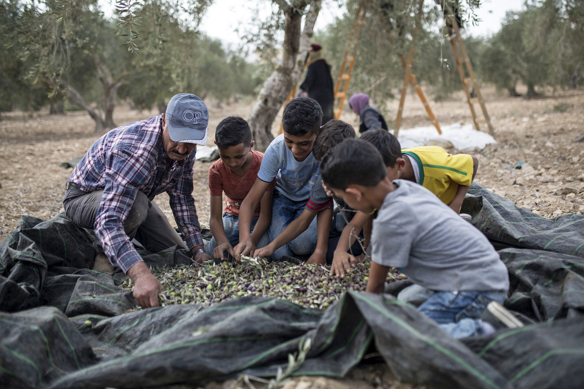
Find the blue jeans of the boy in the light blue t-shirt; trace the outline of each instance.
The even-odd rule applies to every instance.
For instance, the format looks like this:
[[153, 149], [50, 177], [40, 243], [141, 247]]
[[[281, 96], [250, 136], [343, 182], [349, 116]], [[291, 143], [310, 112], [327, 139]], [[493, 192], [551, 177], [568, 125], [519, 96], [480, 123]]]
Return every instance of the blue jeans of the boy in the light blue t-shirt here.
[[[270, 242], [276, 239], [287, 225], [300, 216], [302, 211], [304, 211], [306, 203], [307, 201], [293, 201], [280, 194], [279, 191], [274, 190], [274, 198], [272, 200], [272, 222], [267, 229]], [[317, 218], [314, 218], [312, 219], [310, 226], [308, 226], [303, 233], [274, 251], [272, 254], [272, 260], [278, 260], [280, 257], [283, 257], [283, 255], [294, 257], [295, 254], [312, 254], [316, 247]]]

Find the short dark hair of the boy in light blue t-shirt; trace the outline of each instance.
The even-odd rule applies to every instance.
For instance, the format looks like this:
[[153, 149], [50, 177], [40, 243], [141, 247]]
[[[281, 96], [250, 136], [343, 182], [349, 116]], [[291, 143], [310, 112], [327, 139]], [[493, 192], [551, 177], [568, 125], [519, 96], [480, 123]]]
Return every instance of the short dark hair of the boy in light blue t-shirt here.
[[321, 122], [322, 108], [310, 97], [297, 97], [284, 107], [282, 128], [290, 135], [304, 136], [311, 131], [318, 134]]

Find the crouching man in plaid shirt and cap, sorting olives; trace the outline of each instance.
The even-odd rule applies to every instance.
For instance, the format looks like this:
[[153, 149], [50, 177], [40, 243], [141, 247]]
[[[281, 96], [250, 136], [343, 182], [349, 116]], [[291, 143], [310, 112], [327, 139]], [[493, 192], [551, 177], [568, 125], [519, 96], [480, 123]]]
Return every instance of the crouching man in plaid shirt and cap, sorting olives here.
[[[194, 206], [196, 145], [207, 143], [207, 107], [194, 94], [173, 96], [166, 113], [114, 128], [99, 138], [67, 181], [65, 213], [79, 227], [95, 230], [94, 248], [133, 281], [142, 307], [158, 306], [161, 283], [131, 243], [157, 253], [189, 248], [197, 262], [205, 253]], [[153, 202], [168, 193], [180, 232]], [[99, 254], [98, 254], [99, 257]]]

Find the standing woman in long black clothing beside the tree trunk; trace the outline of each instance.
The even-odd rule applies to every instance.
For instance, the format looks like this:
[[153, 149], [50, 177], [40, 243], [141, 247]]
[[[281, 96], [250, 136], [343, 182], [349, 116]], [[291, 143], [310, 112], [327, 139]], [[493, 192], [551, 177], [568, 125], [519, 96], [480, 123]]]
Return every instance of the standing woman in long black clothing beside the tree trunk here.
[[310, 66], [306, 72], [306, 78], [300, 85], [301, 96], [317, 100], [322, 108], [322, 125], [335, 117], [333, 105], [335, 104], [335, 92], [332, 84], [331, 65], [322, 58], [322, 46], [311, 44]]

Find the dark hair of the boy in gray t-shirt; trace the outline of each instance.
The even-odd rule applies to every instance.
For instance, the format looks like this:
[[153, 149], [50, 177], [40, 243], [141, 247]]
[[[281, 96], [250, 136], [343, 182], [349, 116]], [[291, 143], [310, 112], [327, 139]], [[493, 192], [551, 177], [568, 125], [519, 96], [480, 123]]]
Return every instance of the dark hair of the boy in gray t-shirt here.
[[361, 139], [345, 139], [322, 158], [322, 181], [334, 189], [344, 191], [349, 185], [373, 187], [385, 176], [381, 154]]

